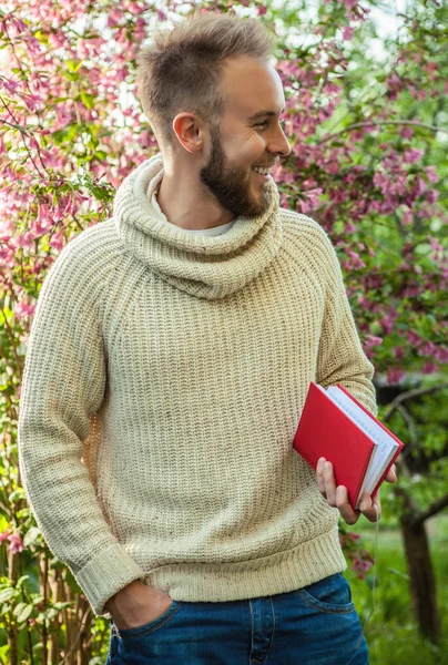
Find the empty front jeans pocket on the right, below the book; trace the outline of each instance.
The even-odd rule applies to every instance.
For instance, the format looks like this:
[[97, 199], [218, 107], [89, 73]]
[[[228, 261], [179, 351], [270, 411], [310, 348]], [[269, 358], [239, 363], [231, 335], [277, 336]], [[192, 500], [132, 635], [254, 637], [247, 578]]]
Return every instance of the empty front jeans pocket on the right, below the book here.
[[327, 614], [354, 612], [350, 585], [342, 573], [298, 589], [296, 593], [309, 606]]

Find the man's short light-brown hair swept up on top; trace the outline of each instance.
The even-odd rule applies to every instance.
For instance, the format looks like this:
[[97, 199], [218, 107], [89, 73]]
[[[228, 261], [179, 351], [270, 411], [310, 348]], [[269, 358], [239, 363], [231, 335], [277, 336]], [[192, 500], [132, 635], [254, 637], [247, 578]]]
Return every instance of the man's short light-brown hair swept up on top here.
[[274, 55], [275, 35], [257, 19], [195, 11], [154, 34], [136, 54], [138, 96], [161, 149], [174, 149], [173, 120], [191, 112], [216, 126], [226, 106], [221, 80], [226, 58]]

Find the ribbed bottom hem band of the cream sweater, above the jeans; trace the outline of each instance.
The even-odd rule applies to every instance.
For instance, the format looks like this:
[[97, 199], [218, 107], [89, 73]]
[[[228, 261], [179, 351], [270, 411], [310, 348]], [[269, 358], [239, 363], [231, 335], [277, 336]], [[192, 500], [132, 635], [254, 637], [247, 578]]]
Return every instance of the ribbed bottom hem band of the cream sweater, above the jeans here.
[[164, 565], [151, 571], [144, 582], [175, 601], [226, 602], [302, 589], [346, 567], [336, 529], [287, 552], [255, 561]]

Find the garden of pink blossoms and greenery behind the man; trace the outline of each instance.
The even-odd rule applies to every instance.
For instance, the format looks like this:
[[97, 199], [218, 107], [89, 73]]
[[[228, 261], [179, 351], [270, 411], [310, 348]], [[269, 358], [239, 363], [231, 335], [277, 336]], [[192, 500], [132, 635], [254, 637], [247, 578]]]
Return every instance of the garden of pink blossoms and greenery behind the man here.
[[[406, 443], [381, 490], [373, 665], [448, 662], [448, 8], [434, 0], [13, 0], [0, 8], [0, 663], [104, 663], [109, 625], [47, 549], [21, 487], [17, 423], [32, 316], [61, 248], [111, 214], [157, 151], [135, 53], [195, 8], [278, 38], [292, 153], [275, 180], [337, 249], [380, 418]], [[340, 524], [373, 608], [375, 533]]]

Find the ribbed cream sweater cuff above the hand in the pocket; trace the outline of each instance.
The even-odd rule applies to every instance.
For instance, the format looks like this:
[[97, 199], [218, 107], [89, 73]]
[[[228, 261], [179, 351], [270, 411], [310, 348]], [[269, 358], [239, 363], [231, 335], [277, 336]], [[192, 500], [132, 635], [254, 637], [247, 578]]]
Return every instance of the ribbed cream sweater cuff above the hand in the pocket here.
[[120, 544], [103, 550], [75, 574], [96, 615], [108, 615], [104, 605], [116, 592], [134, 580], [144, 580], [145, 573]]

